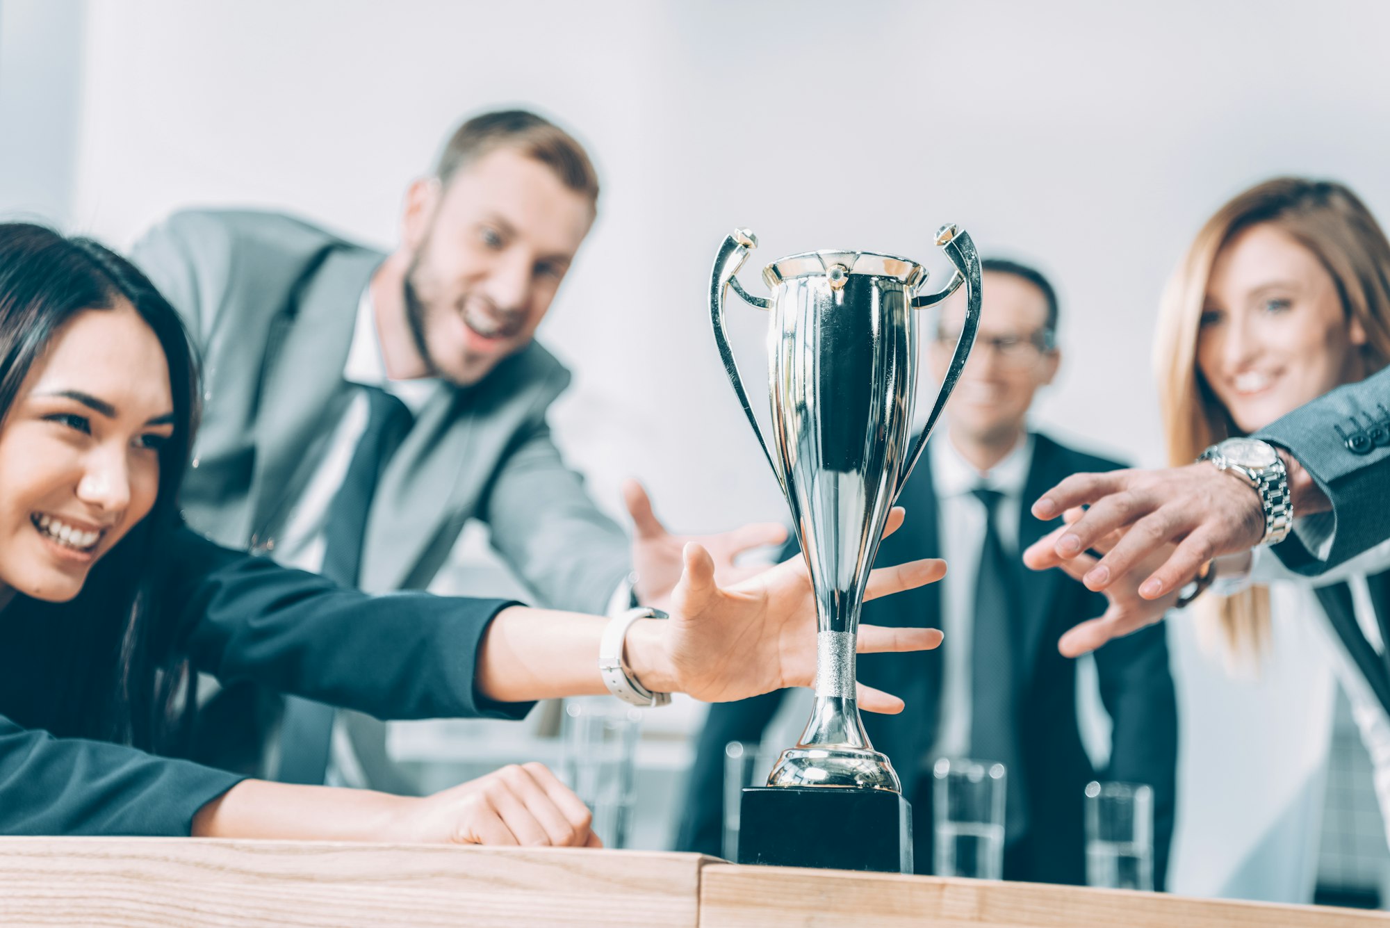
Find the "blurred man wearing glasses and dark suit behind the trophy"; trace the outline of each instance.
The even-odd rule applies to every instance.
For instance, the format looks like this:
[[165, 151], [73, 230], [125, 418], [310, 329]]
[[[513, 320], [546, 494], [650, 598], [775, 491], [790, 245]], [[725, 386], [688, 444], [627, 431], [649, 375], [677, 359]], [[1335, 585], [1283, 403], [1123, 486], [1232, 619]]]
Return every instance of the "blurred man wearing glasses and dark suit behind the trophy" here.
[[[1173, 831], [1177, 707], [1162, 625], [1095, 653], [1111, 715], [1109, 759], [1095, 770], [1081, 746], [1076, 663], [1058, 653], [1077, 617], [1105, 611], [1104, 596], [1062, 571], [1023, 568], [1020, 552], [1047, 532], [1027, 503], [1077, 471], [1120, 467], [1030, 432], [1037, 392], [1052, 382], [1058, 301], [1038, 271], [983, 263], [984, 310], [974, 351], [947, 407], [945, 428], [898, 499], [908, 521], [878, 560], [944, 557], [945, 581], [865, 604], [863, 621], [927, 624], [945, 632], [935, 652], [862, 656], [859, 679], [899, 693], [901, 715], [865, 715], [877, 750], [892, 759], [913, 806], [919, 872], [933, 867], [931, 765], [938, 757], [999, 761], [1008, 770], [1004, 875], [1081, 884], [1083, 795], [1091, 779], [1154, 788], [1154, 885], [1162, 888]], [[942, 304], [930, 364], [940, 381], [965, 317]], [[790, 552], [794, 554], [795, 549]], [[760, 740], [781, 696], [710, 707], [691, 774], [680, 847], [719, 854], [724, 746]], [[760, 771], [762, 772], [762, 771]]]

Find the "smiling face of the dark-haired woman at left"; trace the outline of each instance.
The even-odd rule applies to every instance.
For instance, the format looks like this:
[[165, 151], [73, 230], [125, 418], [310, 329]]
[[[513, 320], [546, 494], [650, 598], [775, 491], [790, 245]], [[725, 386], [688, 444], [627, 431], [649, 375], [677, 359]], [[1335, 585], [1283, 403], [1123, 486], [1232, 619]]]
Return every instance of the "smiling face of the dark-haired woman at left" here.
[[53, 338], [0, 426], [0, 592], [67, 602], [154, 506], [168, 363], [124, 299]]

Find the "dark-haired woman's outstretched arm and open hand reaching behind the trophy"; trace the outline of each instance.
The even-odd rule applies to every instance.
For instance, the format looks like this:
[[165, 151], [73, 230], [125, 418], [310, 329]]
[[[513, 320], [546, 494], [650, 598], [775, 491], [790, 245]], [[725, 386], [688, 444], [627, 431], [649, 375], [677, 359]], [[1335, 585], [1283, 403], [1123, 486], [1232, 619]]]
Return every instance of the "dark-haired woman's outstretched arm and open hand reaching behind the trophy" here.
[[[902, 524], [894, 510], [888, 531]], [[628, 631], [626, 660], [653, 692], [706, 702], [809, 686], [816, 671], [816, 606], [795, 558], [730, 588], [714, 583], [698, 545], [684, 556], [670, 620]], [[920, 560], [873, 572], [867, 597], [940, 579]], [[274, 689], [378, 718], [520, 717], [538, 699], [606, 692], [598, 668], [607, 620], [505, 600], [339, 589], [263, 557], [217, 547], [192, 532], [170, 565], [178, 647], [220, 679]], [[935, 647], [934, 629], [860, 628], [860, 652]], [[898, 711], [897, 697], [862, 690], [860, 706]]]

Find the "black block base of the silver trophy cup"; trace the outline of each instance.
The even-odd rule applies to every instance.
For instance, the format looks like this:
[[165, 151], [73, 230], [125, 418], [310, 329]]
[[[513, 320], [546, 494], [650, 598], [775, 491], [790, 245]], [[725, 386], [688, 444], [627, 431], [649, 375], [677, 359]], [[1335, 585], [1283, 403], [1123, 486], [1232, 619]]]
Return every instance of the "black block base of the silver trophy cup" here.
[[912, 803], [883, 789], [752, 786], [738, 863], [912, 872]]

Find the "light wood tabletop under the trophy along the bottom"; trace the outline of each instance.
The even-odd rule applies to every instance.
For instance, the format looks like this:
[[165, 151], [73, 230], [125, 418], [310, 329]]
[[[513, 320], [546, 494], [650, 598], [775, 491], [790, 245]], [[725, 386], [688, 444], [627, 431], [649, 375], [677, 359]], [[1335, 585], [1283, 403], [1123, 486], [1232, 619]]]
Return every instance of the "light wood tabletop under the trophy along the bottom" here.
[[1390, 914], [676, 853], [0, 838], [0, 925], [1365, 928]]

